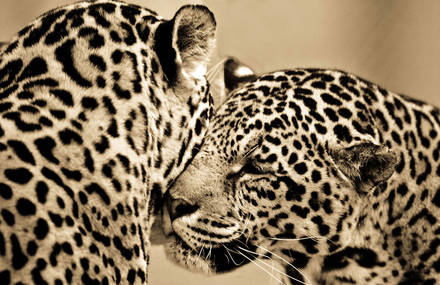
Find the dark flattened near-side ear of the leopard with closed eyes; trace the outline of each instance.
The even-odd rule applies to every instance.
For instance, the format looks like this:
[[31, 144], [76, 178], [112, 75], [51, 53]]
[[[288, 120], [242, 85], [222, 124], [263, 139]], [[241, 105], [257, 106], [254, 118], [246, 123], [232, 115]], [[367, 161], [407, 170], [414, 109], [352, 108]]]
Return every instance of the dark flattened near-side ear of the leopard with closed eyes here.
[[387, 181], [397, 164], [393, 151], [373, 143], [359, 143], [329, 153], [337, 168], [361, 193]]

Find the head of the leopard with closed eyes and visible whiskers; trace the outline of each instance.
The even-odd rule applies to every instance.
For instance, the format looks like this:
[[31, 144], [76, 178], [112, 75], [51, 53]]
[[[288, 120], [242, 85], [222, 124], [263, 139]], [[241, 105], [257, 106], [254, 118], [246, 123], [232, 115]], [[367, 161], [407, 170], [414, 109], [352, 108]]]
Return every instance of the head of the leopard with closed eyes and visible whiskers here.
[[170, 190], [166, 251], [181, 265], [217, 273], [288, 256], [302, 268], [355, 242], [360, 208], [393, 174], [395, 154], [377, 143], [369, 119], [371, 132], [335, 136], [322, 91], [305, 97], [289, 76], [234, 91]]

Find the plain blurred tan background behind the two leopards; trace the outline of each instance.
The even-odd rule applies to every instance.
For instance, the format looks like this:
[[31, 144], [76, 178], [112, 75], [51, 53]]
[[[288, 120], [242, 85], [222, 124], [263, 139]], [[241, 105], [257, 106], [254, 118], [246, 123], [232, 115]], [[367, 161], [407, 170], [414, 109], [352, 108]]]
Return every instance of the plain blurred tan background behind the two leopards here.
[[[1, 0], [0, 41], [66, 0]], [[232, 55], [267, 72], [331, 67], [440, 106], [438, 0], [139, 0], [165, 18], [185, 3], [203, 3], [218, 23], [219, 58]], [[267, 269], [270, 272], [270, 269]], [[216, 277], [191, 274], [153, 248], [151, 284], [276, 284], [248, 265]]]

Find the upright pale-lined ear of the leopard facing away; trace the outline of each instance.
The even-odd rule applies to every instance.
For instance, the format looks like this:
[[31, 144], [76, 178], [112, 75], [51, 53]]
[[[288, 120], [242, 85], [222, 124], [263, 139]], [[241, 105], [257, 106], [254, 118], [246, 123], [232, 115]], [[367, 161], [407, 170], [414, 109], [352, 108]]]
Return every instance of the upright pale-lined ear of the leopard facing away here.
[[154, 49], [171, 86], [206, 75], [215, 48], [216, 22], [201, 5], [186, 5], [174, 18], [159, 25]]

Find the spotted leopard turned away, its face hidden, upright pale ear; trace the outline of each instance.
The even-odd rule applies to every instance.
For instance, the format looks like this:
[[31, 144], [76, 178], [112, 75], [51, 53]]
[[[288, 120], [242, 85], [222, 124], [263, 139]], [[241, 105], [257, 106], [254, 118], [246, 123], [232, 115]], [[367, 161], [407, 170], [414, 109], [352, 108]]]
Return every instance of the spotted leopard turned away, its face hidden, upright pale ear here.
[[216, 21], [116, 0], [55, 8], [0, 48], [2, 284], [147, 284], [150, 230], [213, 112]]

